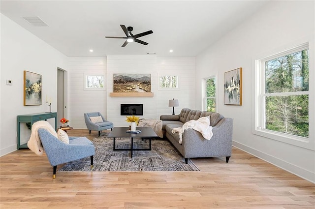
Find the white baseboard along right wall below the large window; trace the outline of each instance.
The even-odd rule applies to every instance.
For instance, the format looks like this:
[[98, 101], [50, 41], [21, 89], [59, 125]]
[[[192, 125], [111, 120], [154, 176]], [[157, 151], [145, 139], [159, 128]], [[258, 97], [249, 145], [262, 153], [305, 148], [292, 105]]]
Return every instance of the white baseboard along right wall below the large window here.
[[[312, 183], [315, 183], [315, 173], [313, 173], [312, 171], [308, 171], [304, 168], [301, 168], [297, 165], [293, 165], [289, 162], [284, 161], [283, 159], [279, 159], [277, 157], [274, 157], [272, 155], [266, 154], [264, 152], [261, 152], [257, 149], [253, 149], [251, 147], [248, 147], [246, 145], [243, 145], [239, 142], [232, 142], [233, 146], [241, 149], [249, 154], [252, 154], [255, 157], [258, 157], [259, 159], [262, 159], [268, 163], [273, 164], [274, 166], [277, 166], [281, 169], [284, 169], [285, 171], [294, 174], [302, 179], [308, 180]], [[232, 155], [233, 157], [233, 155]]]

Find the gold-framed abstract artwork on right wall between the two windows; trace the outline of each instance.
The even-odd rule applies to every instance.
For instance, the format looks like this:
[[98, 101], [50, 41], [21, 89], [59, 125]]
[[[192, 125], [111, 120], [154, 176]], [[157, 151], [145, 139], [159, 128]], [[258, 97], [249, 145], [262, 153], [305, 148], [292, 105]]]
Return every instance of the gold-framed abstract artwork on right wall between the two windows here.
[[242, 105], [242, 67], [224, 73], [224, 104]]

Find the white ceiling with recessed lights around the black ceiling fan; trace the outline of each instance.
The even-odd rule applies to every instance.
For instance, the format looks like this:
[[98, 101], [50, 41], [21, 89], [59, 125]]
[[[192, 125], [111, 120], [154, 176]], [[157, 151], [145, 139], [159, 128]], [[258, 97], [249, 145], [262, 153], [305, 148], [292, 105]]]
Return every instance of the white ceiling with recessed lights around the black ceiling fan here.
[[[194, 57], [255, 13], [266, 0], [1, 0], [0, 12], [68, 57], [105, 57], [157, 53], [158, 57]], [[36, 27], [20, 16], [38, 16]], [[120, 25], [147, 46], [125, 39]], [[1, 30], [5, 30], [2, 29]], [[246, 32], [246, 31], [244, 31]], [[93, 49], [94, 52], [89, 52]], [[174, 52], [170, 53], [169, 50]]]

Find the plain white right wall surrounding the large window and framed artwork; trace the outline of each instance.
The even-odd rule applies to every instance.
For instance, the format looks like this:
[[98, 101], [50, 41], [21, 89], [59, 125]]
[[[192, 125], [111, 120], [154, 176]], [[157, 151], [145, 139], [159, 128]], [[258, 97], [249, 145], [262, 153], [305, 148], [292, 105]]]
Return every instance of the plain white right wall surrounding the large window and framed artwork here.
[[[196, 57], [196, 107], [201, 109], [201, 80], [218, 75], [218, 109], [234, 119], [233, 144], [302, 178], [315, 182], [315, 5], [314, 1], [268, 3], [248, 21], [230, 31]], [[262, 54], [310, 43], [310, 140], [304, 149], [252, 134], [254, 67]], [[242, 106], [223, 105], [223, 73], [243, 67]], [[313, 149], [313, 150], [312, 150]], [[232, 156], [233, 157], [233, 156]]]

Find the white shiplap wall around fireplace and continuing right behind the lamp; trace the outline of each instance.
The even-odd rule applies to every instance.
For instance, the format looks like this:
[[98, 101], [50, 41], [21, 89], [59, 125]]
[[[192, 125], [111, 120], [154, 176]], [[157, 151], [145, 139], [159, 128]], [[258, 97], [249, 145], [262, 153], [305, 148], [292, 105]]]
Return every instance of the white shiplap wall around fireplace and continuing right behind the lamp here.
[[[109, 97], [113, 92], [114, 73], [150, 73], [151, 91], [154, 97]], [[178, 90], [158, 90], [158, 75], [178, 75]], [[126, 116], [120, 115], [120, 104], [143, 104], [141, 118], [159, 119], [160, 115], [172, 114], [168, 100], [179, 99], [180, 106], [175, 108], [179, 114], [184, 107], [195, 107], [195, 59], [158, 58], [156, 55], [108, 55], [107, 56], [107, 118], [116, 127], [129, 125]]]

